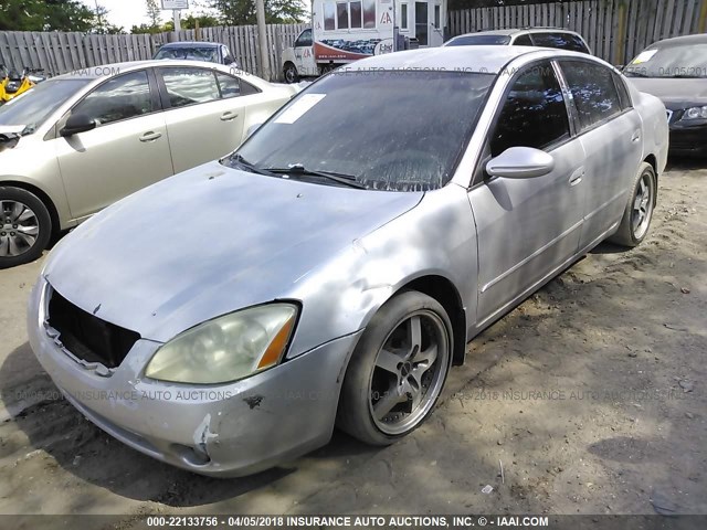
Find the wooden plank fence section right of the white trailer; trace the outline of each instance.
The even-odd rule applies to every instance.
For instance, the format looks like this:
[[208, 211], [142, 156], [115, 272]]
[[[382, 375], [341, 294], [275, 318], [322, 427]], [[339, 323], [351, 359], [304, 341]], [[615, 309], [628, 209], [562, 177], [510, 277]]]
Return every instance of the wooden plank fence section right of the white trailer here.
[[707, 0], [589, 0], [451, 11], [451, 36], [483, 30], [557, 26], [584, 36], [595, 55], [625, 64], [645, 46], [707, 31]]

